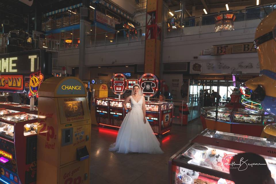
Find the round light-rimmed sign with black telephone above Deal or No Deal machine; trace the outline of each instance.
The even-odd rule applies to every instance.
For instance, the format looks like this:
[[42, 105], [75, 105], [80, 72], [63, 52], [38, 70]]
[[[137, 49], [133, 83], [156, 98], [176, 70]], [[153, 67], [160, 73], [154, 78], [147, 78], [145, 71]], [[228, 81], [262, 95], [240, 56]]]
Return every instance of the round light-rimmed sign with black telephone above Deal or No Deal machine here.
[[154, 74], [143, 74], [138, 82], [142, 88], [143, 95], [146, 97], [152, 97], [159, 90], [159, 80]]

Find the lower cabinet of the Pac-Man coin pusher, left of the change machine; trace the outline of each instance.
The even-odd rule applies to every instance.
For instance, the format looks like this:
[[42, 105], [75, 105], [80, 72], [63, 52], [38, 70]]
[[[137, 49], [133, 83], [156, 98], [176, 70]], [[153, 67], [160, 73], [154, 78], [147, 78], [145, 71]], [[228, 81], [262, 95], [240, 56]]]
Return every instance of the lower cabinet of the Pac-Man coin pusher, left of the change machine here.
[[35, 183], [37, 111], [0, 117], [0, 181]]

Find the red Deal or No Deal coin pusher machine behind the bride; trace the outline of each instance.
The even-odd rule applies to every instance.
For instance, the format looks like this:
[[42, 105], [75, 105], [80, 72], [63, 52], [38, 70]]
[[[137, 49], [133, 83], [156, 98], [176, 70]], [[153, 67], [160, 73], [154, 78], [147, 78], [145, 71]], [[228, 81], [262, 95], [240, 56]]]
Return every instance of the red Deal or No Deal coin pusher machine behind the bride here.
[[[172, 125], [173, 104], [169, 102], [149, 101], [159, 88], [159, 80], [154, 74], [143, 74], [140, 79], [126, 79], [123, 74], [115, 74], [111, 79], [111, 89], [114, 94], [119, 95], [117, 98], [98, 98], [95, 100], [96, 119], [101, 126], [120, 128], [124, 117], [127, 115], [120, 99], [126, 90], [132, 90], [134, 84], [139, 84], [143, 95], [148, 97], [145, 102], [146, 118], [150, 123], [154, 134], [163, 135], [170, 131]], [[127, 103], [127, 108], [131, 104]]]

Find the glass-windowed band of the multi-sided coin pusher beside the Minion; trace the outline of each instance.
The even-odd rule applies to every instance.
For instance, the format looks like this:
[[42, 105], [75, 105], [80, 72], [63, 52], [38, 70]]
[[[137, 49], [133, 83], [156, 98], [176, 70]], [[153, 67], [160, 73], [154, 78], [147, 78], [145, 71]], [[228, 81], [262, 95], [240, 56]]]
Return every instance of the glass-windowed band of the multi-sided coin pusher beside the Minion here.
[[266, 124], [275, 122], [275, 116], [271, 116], [266, 112], [253, 112], [247, 109], [230, 109], [227, 107], [218, 107], [216, 116], [216, 107], [202, 107], [201, 115], [207, 119], [233, 123], [248, 124]]

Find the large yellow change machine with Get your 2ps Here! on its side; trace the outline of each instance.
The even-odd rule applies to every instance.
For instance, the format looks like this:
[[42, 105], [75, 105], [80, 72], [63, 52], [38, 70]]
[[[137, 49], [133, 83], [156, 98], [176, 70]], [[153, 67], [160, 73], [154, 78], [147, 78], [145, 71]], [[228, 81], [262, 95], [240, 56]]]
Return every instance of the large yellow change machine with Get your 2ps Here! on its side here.
[[88, 184], [91, 120], [86, 88], [51, 77], [39, 89], [37, 183]]

